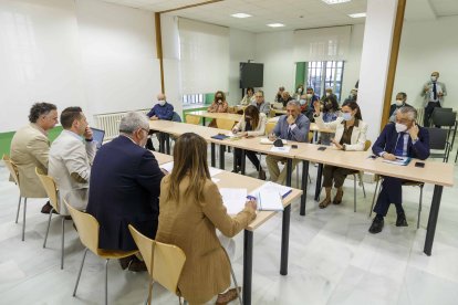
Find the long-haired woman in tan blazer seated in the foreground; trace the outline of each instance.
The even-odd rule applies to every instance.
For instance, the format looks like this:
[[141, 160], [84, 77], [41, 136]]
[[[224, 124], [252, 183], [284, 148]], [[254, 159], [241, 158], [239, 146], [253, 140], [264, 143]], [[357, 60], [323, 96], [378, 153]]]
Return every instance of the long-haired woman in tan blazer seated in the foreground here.
[[[179, 246], [186, 263], [178, 282], [189, 304], [204, 304], [230, 286], [230, 262], [216, 229], [235, 236], [256, 218], [256, 201], [247, 201], [233, 218], [222, 204], [207, 164], [207, 143], [183, 134], [174, 148], [174, 169], [160, 183], [156, 240]], [[218, 295], [217, 304], [237, 298], [237, 288]]]

